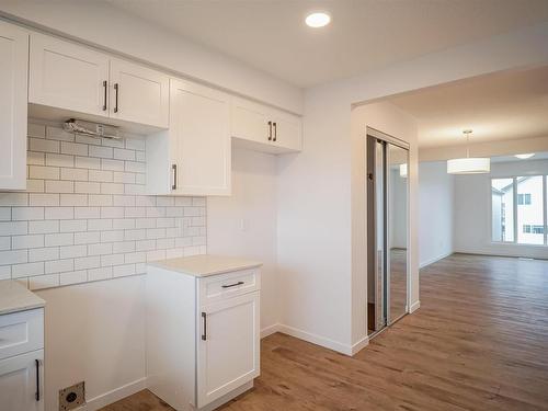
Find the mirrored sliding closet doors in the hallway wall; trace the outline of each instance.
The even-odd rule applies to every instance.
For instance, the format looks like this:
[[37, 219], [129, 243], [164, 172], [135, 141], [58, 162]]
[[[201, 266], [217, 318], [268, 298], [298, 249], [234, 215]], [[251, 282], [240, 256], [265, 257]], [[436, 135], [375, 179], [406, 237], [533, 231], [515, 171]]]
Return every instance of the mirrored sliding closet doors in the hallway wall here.
[[367, 129], [367, 334], [408, 313], [409, 146]]

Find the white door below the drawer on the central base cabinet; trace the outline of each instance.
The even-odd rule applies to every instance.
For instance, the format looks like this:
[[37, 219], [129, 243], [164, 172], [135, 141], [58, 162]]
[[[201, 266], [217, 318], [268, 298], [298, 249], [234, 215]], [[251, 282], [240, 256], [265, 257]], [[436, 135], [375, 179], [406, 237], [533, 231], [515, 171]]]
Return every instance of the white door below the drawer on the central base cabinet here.
[[198, 318], [198, 408], [259, 376], [259, 293], [205, 306]]

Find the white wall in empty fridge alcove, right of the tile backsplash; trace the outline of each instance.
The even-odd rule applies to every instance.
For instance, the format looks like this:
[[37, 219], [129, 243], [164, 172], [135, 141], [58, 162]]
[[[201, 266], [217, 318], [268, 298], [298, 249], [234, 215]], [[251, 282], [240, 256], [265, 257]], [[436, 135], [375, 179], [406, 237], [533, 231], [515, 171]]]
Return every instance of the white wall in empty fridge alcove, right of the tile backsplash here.
[[207, 199], [207, 252], [263, 262], [261, 329], [278, 322], [276, 157], [232, 149], [232, 195]]

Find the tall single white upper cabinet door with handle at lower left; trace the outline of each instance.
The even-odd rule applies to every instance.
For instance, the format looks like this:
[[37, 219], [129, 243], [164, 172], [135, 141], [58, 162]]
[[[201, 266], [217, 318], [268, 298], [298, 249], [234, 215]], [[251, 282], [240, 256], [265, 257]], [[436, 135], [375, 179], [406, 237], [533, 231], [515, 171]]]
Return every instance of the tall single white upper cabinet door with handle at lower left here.
[[226, 93], [171, 80], [173, 194], [230, 194], [230, 101]]

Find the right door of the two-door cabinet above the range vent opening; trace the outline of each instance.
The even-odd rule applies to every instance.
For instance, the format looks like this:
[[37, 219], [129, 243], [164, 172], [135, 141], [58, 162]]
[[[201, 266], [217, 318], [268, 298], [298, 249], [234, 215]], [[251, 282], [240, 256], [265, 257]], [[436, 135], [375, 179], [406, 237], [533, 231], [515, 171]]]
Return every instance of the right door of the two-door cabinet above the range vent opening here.
[[125, 60], [111, 60], [113, 118], [168, 128], [169, 78], [156, 70]]

